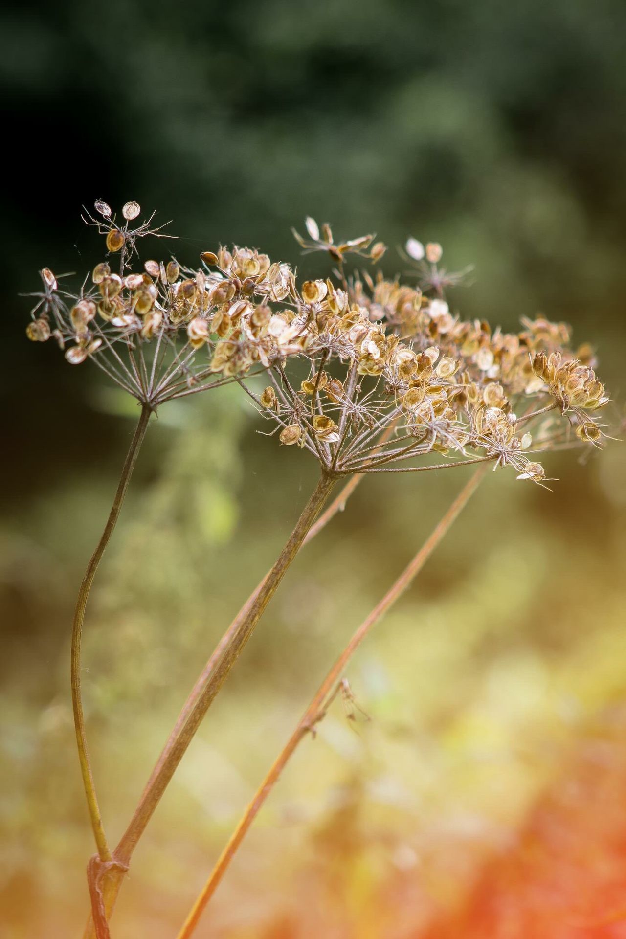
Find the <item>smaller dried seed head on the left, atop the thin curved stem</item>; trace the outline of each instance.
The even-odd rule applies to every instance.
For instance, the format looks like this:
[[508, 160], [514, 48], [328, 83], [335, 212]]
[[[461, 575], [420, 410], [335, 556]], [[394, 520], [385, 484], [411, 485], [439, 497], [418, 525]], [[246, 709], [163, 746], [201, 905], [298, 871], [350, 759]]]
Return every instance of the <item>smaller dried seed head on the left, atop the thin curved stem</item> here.
[[199, 269], [173, 257], [142, 264], [139, 239], [170, 236], [151, 227], [152, 216], [141, 222], [136, 202], [124, 206], [121, 223], [105, 202], [95, 208], [99, 218], [85, 212], [84, 221], [104, 236], [105, 258], [77, 289], [40, 271], [29, 339], [53, 338], [70, 364], [94, 362], [151, 408], [302, 351], [306, 334], [289, 330], [270, 307], [291, 297], [287, 265], [237, 247], [206, 253]]

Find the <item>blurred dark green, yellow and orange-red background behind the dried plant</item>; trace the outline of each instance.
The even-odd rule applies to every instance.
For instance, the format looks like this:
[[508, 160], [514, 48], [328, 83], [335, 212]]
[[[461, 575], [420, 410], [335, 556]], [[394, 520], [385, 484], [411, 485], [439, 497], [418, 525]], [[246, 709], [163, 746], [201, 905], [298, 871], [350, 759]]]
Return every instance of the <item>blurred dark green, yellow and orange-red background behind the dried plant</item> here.
[[[134, 408], [23, 334], [37, 271], [83, 276], [82, 204], [137, 199], [195, 264], [222, 241], [304, 269], [291, 225], [441, 241], [450, 302], [543, 313], [598, 350], [620, 437], [623, 0], [8, 4], [3, 83], [0, 906], [78, 935], [92, 847], [69, 625]], [[147, 255], [156, 248], [146, 248]], [[146, 255], [146, 256], [147, 256]], [[213, 645], [310, 487], [225, 389], [161, 409], [87, 613], [105, 822], [125, 827]], [[626, 459], [490, 476], [272, 794], [198, 931], [221, 939], [626, 936]], [[361, 485], [286, 578], [166, 794], [115, 939], [176, 934], [344, 641], [463, 485]]]

